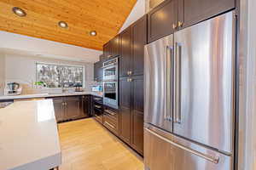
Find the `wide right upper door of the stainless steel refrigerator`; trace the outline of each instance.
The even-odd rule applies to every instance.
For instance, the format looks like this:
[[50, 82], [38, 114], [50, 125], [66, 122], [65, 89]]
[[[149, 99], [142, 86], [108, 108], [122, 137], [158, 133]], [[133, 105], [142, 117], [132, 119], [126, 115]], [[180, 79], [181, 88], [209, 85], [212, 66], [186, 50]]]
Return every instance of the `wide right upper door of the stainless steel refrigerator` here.
[[225, 153], [233, 150], [233, 12], [174, 35], [173, 132]]

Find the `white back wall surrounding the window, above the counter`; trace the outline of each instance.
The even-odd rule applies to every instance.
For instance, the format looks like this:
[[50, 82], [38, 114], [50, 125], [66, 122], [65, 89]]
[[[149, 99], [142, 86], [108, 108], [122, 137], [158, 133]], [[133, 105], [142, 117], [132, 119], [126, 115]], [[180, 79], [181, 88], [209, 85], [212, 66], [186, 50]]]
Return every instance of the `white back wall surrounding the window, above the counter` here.
[[42, 89], [32, 88], [36, 82], [36, 62], [55, 63], [63, 65], [84, 65], [85, 90], [90, 90], [93, 82], [93, 64], [59, 59], [46, 59], [40, 57], [5, 54], [5, 82], [19, 82], [23, 87], [22, 94], [42, 93]]

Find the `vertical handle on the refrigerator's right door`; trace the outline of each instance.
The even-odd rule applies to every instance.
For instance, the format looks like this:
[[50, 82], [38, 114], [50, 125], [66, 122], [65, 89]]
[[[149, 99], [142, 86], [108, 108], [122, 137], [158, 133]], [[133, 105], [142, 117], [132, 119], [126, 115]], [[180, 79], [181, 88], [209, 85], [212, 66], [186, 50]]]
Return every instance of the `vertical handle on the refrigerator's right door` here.
[[181, 123], [181, 62], [182, 62], [182, 44], [176, 42], [175, 43], [175, 72], [174, 72], [174, 83], [175, 83], [175, 94], [174, 94], [174, 122]]

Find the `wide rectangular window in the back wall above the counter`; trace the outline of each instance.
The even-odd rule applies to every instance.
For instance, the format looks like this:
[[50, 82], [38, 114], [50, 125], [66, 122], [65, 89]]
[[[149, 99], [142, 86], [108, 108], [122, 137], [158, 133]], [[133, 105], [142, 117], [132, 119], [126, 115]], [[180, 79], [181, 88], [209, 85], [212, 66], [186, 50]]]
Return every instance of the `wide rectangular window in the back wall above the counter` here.
[[47, 88], [84, 87], [84, 66], [37, 63], [37, 82]]

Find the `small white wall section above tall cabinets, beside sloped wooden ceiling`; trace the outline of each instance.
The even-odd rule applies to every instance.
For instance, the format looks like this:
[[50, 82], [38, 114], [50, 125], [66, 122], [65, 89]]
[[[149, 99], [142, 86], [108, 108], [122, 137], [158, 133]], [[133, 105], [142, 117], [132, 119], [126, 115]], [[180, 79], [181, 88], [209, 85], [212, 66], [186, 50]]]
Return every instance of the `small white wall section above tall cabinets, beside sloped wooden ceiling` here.
[[131, 10], [131, 13], [125, 20], [124, 25], [120, 28], [119, 32], [124, 31], [125, 28], [130, 26], [133, 22], [141, 18], [145, 14], [145, 0], [137, 0], [137, 3]]

